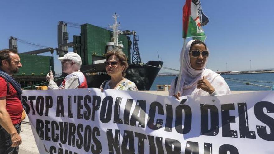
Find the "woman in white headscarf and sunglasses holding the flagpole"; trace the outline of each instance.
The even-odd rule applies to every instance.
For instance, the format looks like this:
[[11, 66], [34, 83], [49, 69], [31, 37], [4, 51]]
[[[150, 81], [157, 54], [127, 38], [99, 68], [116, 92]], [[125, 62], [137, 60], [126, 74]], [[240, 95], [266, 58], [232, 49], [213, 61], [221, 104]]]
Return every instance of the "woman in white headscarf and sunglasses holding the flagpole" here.
[[171, 82], [169, 96], [198, 95], [198, 96], [220, 96], [231, 94], [229, 86], [224, 78], [205, 65], [208, 60], [209, 51], [204, 42], [191, 40], [187, 43], [185, 53], [180, 54], [180, 62], [184, 56], [179, 92], [175, 94], [175, 79]]

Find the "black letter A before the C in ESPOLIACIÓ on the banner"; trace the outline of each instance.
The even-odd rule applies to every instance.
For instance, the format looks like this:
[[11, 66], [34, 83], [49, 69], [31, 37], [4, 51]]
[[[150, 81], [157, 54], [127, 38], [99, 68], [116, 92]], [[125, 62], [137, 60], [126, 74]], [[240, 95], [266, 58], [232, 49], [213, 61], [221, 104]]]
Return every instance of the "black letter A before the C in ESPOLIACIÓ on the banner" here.
[[[139, 112], [140, 112], [140, 116], [138, 116]], [[136, 122], [138, 121], [138, 127], [144, 128], [145, 115], [146, 115], [146, 101], [137, 100], [136, 106], [130, 118], [130, 125], [136, 126]]]

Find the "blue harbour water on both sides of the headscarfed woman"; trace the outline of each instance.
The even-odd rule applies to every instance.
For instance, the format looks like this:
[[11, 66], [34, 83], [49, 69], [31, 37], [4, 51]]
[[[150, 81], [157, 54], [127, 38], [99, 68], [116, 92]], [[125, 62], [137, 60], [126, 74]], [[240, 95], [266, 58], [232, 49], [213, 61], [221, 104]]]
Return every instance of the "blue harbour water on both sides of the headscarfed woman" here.
[[[224, 78], [231, 78], [231, 79], [242, 79], [242, 80], [252, 80], [252, 81], [241, 81], [236, 80], [239, 82], [234, 81], [228, 81], [225, 80], [232, 91], [267, 91], [271, 88], [262, 87], [262, 86], [253, 86], [253, 85], [246, 85], [246, 82], [254, 83], [258, 85], [264, 85], [264, 86], [273, 86], [274, 85], [274, 73], [257, 73], [257, 74], [227, 74], [227, 75], [221, 75]], [[176, 76], [159, 76], [156, 77], [154, 80], [154, 83], [152, 84], [150, 90], [156, 90], [156, 85], [170, 85], [173, 79], [175, 79]], [[253, 81], [263, 81], [263, 82], [253, 82]], [[267, 83], [267, 82], [273, 82], [273, 83]]]

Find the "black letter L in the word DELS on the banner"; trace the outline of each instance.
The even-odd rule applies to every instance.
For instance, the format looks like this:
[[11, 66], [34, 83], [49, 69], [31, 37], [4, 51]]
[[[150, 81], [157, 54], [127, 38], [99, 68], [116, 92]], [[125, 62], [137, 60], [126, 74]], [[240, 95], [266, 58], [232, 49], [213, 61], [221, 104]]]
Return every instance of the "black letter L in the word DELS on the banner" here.
[[240, 138], [256, 139], [254, 131], [249, 131], [246, 103], [238, 103]]

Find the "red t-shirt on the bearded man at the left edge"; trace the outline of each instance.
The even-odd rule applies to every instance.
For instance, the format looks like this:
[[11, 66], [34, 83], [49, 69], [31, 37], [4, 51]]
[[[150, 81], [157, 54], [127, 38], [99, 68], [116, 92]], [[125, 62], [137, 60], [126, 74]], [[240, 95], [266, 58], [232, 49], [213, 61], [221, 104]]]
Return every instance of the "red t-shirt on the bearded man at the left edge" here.
[[6, 110], [12, 119], [12, 124], [21, 122], [23, 106], [11, 83], [9, 83], [9, 92], [7, 94], [7, 82], [0, 77], [0, 97], [6, 97]]

